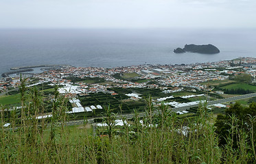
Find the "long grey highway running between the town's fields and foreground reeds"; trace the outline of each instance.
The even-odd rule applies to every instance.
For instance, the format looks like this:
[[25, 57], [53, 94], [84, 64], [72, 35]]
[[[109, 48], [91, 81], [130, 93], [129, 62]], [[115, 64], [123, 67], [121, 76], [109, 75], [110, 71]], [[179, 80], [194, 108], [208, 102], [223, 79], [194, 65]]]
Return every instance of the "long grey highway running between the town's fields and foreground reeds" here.
[[[241, 100], [241, 99], [245, 99], [245, 98], [252, 98], [252, 97], [255, 97], [256, 96], [256, 93], [253, 93], [253, 94], [244, 94], [244, 95], [241, 95], [241, 96], [235, 96], [235, 97], [231, 97], [231, 98], [223, 98], [221, 100], [212, 100], [212, 101], [209, 101], [207, 102], [207, 105], [215, 105], [215, 104], [218, 104], [218, 103], [224, 103], [224, 102], [231, 102], [231, 101], [236, 101], [236, 100]], [[172, 111], [176, 112], [176, 111], [185, 111], [186, 109], [189, 109], [191, 107], [198, 107], [198, 105], [188, 105], [186, 107], [174, 107], [172, 108]], [[152, 112], [153, 114], [159, 114], [159, 111], [153, 111]], [[147, 113], [146, 112], [142, 112], [142, 113], [139, 113], [139, 117], [143, 117], [143, 116], [146, 116]], [[121, 118], [127, 118], [127, 119], [130, 119], [130, 118], [134, 118], [135, 117], [135, 114], [132, 113], [132, 114], [122, 114], [122, 115], [117, 115], [117, 119], [121, 119]], [[87, 120], [88, 123], [93, 123], [93, 120], [95, 118], [90, 118]], [[84, 124], [84, 120], [75, 120], [75, 121], [70, 121], [70, 122], [67, 122], [67, 125], [78, 125], [78, 124]]]

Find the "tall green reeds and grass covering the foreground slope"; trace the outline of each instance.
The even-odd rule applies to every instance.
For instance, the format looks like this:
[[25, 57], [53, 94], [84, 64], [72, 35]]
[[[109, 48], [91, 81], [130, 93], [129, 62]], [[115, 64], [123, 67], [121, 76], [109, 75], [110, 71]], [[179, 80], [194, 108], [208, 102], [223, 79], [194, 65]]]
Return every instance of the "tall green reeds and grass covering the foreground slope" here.
[[[165, 105], [157, 109], [159, 115], [153, 115], [156, 109], [152, 99], [148, 98], [148, 115], [143, 118], [143, 124], [135, 111], [133, 121], [123, 118], [127, 124], [122, 127], [115, 126], [115, 115], [108, 107], [104, 119], [108, 124], [108, 136], [102, 137], [92, 135], [86, 124], [65, 125], [67, 100], [58, 94], [57, 87], [51, 101], [51, 120], [35, 119], [44, 112], [42, 97], [36, 88], [29, 91], [25, 87], [23, 89], [21, 109], [12, 111], [11, 117], [6, 118], [4, 107], [1, 107], [0, 163], [255, 162], [255, 150], [254, 154], [247, 153], [252, 148], [250, 144], [254, 143], [247, 142], [246, 133], [237, 128], [235, 117], [232, 118], [230, 133], [238, 137], [226, 137], [226, 146], [218, 146], [213, 121], [204, 107], [193, 120], [180, 120]], [[255, 118], [251, 120], [253, 124]], [[6, 122], [11, 122], [12, 128], [3, 128]], [[121, 133], [115, 135], [115, 130]], [[249, 134], [253, 140], [255, 136]], [[233, 147], [235, 139], [236, 149]]]

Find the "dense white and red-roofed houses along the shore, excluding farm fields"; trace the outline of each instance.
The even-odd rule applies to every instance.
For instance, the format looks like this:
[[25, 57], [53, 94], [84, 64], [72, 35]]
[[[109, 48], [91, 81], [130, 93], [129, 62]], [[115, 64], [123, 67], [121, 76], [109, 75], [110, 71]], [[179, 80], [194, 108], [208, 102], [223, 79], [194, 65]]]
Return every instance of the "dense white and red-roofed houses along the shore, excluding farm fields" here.
[[[231, 62], [244, 64], [244, 66], [230, 66]], [[61, 84], [64, 87], [60, 88], [60, 93], [72, 94], [90, 94], [97, 92], [104, 92], [113, 94], [109, 91], [110, 87], [146, 87], [146, 88], [160, 88], [167, 86], [167, 90], [163, 93], [180, 92], [183, 87], [191, 87], [195, 90], [209, 90], [207, 85], [202, 82], [210, 80], [224, 80], [229, 78], [229, 74], [240, 74], [242, 72], [256, 76], [256, 71], [252, 66], [256, 59], [252, 57], [241, 57], [233, 61], [218, 61], [204, 64], [180, 64], [180, 65], [140, 65], [117, 68], [93, 68], [93, 67], [65, 67], [58, 70], [47, 70], [40, 74], [34, 74], [33, 78], [39, 79], [38, 83], [51, 83], [52, 85]], [[251, 66], [251, 67], [248, 67]], [[218, 70], [216, 68], [224, 68]], [[237, 71], [241, 68], [242, 71]], [[134, 73], [138, 74], [137, 79], [154, 80], [155, 83], [134, 83], [132, 81], [117, 79], [114, 74]], [[69, 77], [76, 77], [83, 79], [85, 77], [102, 78], [106, 83], [86, 83], [77, 82], [71, 83]], [[33, 78], [28, 78], [28, 81]], [[37, 84], [38, 84], [37, 83]], [[11, 81], [0, 81], [0, 93], [6, 92], [8, 87], [16, 88], [20, 84], [19, 76], [13, 77]], [[36, 85], [36, 84], [34, 84]], [[28, 85], [32, 86], [32, 85]], [[171, 87], [170, 87], [171, 86]]]

